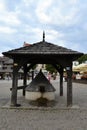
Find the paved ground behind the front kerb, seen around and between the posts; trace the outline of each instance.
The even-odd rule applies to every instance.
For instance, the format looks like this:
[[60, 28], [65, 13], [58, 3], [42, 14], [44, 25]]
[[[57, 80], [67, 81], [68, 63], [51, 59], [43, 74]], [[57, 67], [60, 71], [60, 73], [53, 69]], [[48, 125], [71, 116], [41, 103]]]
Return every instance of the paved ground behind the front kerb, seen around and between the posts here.
[[[56, 88], [56, 103], [55, 107], [61, 108], [66, 107], [67, 105], [67, 83], [63, 84], [63, 96], [59, 96], [59, 82], [57, 80], [51, 81], [51, 83]], [[11, 92], [10, 88], [12, 85], [12, 81], [0, 81], [0, 107], [5, 105], [10, 105], [10, 97]], [[22, 85], [22, 81], [19, 80], [19, 85]], [[22, 90], [18, 91], [18, 103], [22, 105], [22, 107], [31, 107], [29, 103], [22, 96]], [[73, 83], [73, 106], [80, 108], [87, 108], [87, 84], [79, 84]]]

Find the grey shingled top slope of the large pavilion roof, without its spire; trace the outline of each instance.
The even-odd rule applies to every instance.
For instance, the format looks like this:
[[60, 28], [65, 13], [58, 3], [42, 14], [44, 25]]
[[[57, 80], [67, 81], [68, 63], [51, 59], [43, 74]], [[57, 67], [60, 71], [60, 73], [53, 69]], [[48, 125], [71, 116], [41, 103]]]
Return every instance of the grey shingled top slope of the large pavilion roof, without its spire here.
[[62, 46], [54, 45], [52, 43], [46, 42], [46, 41], [40, 41], [34, 44], [31, 44], [30, 46], [21, 47], [18, 49], [10, 50], [7, 52], [3, 52], [4, 55], [29, 55], [29, 54], [57, 54], [57, 55], [82, 55], [83, 53], [67, 49]]

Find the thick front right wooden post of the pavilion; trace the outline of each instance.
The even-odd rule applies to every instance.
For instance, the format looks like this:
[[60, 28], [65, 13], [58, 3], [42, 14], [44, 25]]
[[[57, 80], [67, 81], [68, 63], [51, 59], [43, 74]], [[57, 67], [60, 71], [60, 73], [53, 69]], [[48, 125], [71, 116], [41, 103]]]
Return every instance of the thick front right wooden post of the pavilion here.
[[72, 106], [72, 65], [67, 69], [67, 106]]

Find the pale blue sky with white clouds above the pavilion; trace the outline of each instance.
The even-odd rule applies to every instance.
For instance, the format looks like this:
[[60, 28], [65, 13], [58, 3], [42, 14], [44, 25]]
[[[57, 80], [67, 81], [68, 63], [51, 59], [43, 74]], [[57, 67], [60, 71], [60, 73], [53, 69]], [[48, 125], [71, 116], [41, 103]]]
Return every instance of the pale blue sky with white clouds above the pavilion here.
[[0, 0], [0, 55], [42, 40], [87, 53], [87, 0]]

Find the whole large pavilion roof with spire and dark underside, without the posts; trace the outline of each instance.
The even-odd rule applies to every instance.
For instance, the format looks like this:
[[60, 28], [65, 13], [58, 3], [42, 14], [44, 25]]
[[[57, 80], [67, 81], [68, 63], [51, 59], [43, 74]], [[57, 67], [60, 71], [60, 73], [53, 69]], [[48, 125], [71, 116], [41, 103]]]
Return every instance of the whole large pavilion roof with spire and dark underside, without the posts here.
[[67, 49], [45, 41], [44, 35], [43, 40], [40, 42], [3, 52], [3, 54], [12, 59], [18, 59], [18, 61], [26, 61], [26, 63], [55, 63], [61, 64], [62, 66], [67, 66], [69, 62], [72, 62], [83, 55], [81, 52]]

